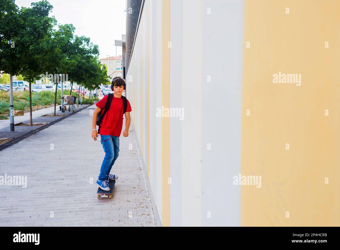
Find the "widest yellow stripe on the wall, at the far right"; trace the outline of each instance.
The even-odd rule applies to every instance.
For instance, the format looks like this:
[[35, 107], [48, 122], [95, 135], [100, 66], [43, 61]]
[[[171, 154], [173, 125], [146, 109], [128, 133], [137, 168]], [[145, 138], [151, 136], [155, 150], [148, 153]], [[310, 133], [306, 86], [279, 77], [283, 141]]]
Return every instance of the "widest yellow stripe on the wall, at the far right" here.
[[[241, 226], [339, 225], [339, 10], [245, 1], [241, 174], [261, 188], [241, 186]], [[279, 72], [301, 74], [301, 86], [273, 83]]]

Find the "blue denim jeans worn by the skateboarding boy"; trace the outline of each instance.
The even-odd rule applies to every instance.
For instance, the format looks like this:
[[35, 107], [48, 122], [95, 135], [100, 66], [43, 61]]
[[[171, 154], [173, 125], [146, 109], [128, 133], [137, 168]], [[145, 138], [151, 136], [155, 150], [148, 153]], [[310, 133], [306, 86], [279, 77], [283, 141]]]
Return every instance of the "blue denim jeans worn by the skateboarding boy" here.
[[[108, 140], [107, 140], [108, 139]], [[104, 181], [107, 179], [111, 171], [111, 168], [118, 158], [119, 152], [119, 136], [100, 136], [101, 144], [105, 152], [105, 157], [100, 168], [100, 174], [98, 180]]]

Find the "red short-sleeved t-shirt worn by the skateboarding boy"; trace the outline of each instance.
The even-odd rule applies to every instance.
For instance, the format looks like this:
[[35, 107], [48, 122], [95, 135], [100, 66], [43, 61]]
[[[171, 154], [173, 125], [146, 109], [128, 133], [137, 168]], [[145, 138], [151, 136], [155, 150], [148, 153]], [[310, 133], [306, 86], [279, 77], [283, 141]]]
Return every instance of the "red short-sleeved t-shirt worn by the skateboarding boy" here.
[[[107, 96], [105, 95], [102, 100], [96, 103], [96, 106], [101, 109], [101, 112], [104, 112], [105, 103], [107, 100]], [[127, 100], [127, 99], [126, 99]], [[131, 112], [131, 105], [129, 100], [128, 106], [126, 107], [126, 112]], [[117, 98], [115, 96], [112, 97], [112, 102], [109, 109], [106, 111], [102, 123], [100, 124], [99, 134], [103, 136], [120, 136], [123, 127], [123, 99]]]

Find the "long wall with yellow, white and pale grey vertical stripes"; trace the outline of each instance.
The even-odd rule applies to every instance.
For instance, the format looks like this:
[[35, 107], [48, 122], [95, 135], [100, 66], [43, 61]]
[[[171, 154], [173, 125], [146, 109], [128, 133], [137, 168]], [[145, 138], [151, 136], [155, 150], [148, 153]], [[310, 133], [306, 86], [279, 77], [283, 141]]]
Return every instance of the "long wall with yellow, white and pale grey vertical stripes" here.
[[126, 83], [158, 226], [339, 226], [339, 14], [336, 1], [145, 0]]

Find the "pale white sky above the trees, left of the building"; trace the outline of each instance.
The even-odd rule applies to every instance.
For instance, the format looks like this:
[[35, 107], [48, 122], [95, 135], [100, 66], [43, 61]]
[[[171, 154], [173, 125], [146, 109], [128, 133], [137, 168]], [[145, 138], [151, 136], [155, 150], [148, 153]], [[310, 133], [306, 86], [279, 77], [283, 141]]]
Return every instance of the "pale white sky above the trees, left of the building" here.
[[[15, 0], [18, 7], [30, 7], [35, 0]], [[116, 56], [115, 39], [125, 34], [125, 0], [49, 0], [58, 23], [72, 23], [75, 34], [98, 44], [100, 58]], [[122, 54], [117, 47], [117, 55]]]

